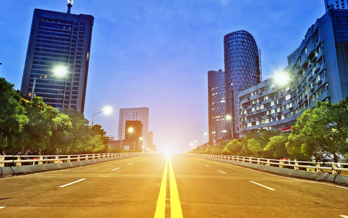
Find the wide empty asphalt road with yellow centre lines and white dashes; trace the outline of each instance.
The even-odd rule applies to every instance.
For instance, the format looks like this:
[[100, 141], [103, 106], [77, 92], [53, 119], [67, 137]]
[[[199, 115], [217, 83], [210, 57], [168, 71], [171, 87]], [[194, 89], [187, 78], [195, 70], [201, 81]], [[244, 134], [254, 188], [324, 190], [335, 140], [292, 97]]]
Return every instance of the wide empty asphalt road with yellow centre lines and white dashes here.
[[1, 217], [348, 218], [347, 187], [188, 155], [14, 176], [0, 187]]

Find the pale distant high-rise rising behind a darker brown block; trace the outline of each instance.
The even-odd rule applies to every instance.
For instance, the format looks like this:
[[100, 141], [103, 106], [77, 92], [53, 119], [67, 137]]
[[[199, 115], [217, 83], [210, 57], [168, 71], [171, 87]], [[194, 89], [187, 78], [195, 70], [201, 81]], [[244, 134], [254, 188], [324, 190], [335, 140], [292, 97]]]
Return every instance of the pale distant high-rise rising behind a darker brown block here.
[[118, 119], [118, 140], [125, 139], [125, 133], [128, 129], [126, 128], [127, 120], [139, 120], [142, 127], [142, 145], [147, 148], [148, 142], [148, 131], [149, 131], [149, 108], [148, 107], [135, 107], [135, 108], [120, 108], [120, 114]]

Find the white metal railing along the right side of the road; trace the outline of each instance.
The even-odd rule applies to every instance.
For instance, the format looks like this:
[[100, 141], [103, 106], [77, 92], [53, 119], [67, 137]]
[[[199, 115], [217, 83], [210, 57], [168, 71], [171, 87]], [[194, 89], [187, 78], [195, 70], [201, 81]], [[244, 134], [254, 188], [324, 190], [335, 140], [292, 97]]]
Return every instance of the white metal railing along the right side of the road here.
[[[201, 157], [210, 157], [226, 160], [236, 160], [242, 162], [249, 162], [255, 164], [262, 164], [267, 166], [276, 166], [284, 168], [284, 166], [293, 167], [294, 170], [302, 170], [301, 168], [315, 169], [315, 172], [322, 173], [323, 171], [331, 171], [333, 174], [339, 174], [339, 171], [348, 171], [348, 168], [341, 168], [339, 166], [348, 165], [348, 163], [333, 163], [333, 162], [311, 162], [311, 161], [297, 161], [297, 160], [275, 160], [265, 158], [254, 158], [254, 157], [240, 157], [240, 156], [228, 156], [228, 155], [207, 155], [188, 153], [188, 155], [196, 155]], [[328, 167], [330, 166], [330, 167]]]

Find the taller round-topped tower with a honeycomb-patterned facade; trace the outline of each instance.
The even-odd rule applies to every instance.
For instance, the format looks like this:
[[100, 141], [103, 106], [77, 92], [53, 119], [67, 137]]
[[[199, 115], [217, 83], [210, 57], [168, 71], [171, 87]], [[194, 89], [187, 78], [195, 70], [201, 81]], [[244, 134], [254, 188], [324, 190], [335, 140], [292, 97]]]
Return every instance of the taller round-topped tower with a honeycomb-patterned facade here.
[[239, 138], [237, 121], [238, 94], [261, 82], [260, 55], [254, 37], [245, 30], [224, 36], [224, 65], [226, 74], [226, 114], [229, 138]]

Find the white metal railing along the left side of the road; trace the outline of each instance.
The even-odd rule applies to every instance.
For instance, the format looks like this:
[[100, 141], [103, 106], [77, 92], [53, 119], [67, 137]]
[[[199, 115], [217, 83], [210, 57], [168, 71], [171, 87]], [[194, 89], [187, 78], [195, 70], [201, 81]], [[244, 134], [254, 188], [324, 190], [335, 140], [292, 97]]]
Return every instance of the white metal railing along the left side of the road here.
[[70, 162], [71, 160], [92, 160], [107, 157], [121, 157], [130, 155], [139, 155], [143, 152], [126, 152], [126, 153], [103, 153], [103, 154], [86, 154], [86, 155], [0, 155], [0, 167], [4, 167], [5, 163], [15, 163], [16, 166], [22, 166], [22, 163], [35, 164], [50, 164]]

